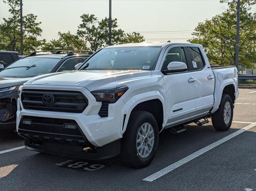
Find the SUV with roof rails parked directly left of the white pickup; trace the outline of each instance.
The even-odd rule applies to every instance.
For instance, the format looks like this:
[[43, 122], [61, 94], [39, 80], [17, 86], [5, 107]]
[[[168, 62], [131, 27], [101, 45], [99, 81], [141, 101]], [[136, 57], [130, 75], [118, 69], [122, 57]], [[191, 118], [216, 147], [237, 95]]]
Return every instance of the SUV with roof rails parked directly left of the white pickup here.
[[74, 70], [76, 64], [89, 56], [72, 51], [38, 51], [0, 71], [0, 128], [16, 127], [16, 100], [20, 85], [34, 76]]

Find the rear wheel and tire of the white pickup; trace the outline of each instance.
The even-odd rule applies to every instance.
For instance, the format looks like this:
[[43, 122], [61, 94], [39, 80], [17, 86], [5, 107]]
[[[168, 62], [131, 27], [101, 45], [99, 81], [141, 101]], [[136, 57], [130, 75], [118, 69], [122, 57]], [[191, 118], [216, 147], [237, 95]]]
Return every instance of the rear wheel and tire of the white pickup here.
[[[229, 108], [230, 112], [226, 110], [226, 108]], [[225, 114], [226, 118], [224, 116], [224, 112], [226, 113]], [[230, 128], [232, 124], [232, 120], [233, 120], [232, 99], [229, 95], [223, 94], [218, 110], [214, 114], [212, 114], [212, 124], [217, 131], [226, 131]]]

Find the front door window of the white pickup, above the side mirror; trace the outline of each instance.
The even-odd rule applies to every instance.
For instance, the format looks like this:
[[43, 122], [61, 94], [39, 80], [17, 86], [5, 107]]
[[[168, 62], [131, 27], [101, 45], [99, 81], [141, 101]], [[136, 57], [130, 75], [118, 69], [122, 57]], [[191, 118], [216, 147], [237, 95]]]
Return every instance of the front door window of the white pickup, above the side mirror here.
[[164, 59], [162, 70], [167, 70], [167, 66], [171, 62], [184, 62], [187, 64], [184, 47], [171, 48]]

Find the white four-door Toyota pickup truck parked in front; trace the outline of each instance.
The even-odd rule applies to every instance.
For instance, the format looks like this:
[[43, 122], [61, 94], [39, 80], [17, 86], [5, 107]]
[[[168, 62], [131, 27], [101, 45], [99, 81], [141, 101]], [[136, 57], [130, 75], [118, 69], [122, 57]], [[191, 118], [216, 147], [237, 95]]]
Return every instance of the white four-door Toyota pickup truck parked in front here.
[[29, 150], [78, 158], [120, 154], [131, 167], [154, 159], [159, 133], [212, 118], [228, 130], [238, 97], [236, 67], [211, 68], [202, 45], [105, 47], [78, 71], [30, 79], [19, 89], [17, 132]]

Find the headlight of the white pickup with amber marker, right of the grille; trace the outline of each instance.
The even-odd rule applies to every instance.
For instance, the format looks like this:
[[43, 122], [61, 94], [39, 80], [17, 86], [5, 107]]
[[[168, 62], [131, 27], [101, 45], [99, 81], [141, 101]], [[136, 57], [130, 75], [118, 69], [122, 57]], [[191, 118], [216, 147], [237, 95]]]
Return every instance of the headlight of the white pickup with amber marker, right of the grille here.
[[115, 103], [127, 90], [128, 87], [124, 86], [115, 89], [96, 90], [91, 93], [96, 98], [96, 101]]

